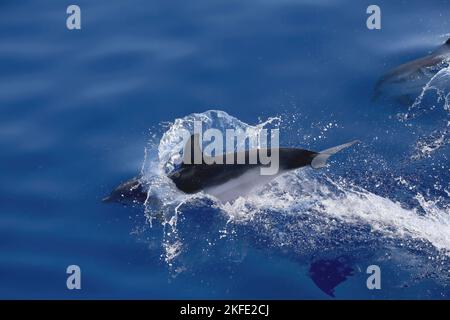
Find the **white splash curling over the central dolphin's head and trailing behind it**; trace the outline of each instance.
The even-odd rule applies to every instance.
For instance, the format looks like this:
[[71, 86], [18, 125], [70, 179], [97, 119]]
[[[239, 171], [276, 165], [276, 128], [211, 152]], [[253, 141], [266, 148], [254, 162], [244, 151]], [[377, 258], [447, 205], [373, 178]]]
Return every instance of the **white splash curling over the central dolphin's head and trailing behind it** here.
[[[205, 127], [243, 129], [250, 133], [280, 121], [278, 117], [270, 118], [251, 126], [223, 111], [207, 111], [175, 120], [163, 134], [158, 145], [159, 159], [149, 160], [147, 157], [144, 178], [149, 186], [146, 214], [150, 221], [157, 219], [165, 226], [165, 260], [169, 264], [184, 250], [183, 239], [178, 235], [178, 219], [185, 208], [195, 207], [199, 203], [208, 206], [212, 212], [221, 212], [228, 225], [248, 226], [264, 232], [272, 239], [273, 246], [298, 247], [301, 236], [305, 237], [302, 239], [303, 246], [320, 246], [320, 239], [336, 237], [333, 232], [344, 225], [349, 230], [346, 235], [349, 241], [356, 232], [359, 232], [359, 238], [376, 233], [402, 243], [412, 239], [431, 244], [436, 250], [450, 255], [448, 201], [438, 205], [436, 201], [426, 200], [417, 193], [414, 200], [418, 206], [411, 209], [348, 181], [333, 181], [326, 170], [299, 169], [287, 173], [232, 203], [216, 202], [203, 193], [193, 196], [181, 193], [166, 177], [167, 163], [174, 161], [183, 148], [177, 131], [181, 128], [192, 129], [193, 121], [199, 119], [204, 121]], [[401, 183], [399, 186], [408, 187]], [[283, 222], [281, 226], [275, 224], [274, 219], [280, 217], [289, 219], [289, 222]], [[317, 220], [314, 223], [305, 222], [314, 219]], [[371, 232], [364, 235], [355, 229], [355, 234], [352, 234], [351, 228], [360, 226], [368, 226]], [[217, 233], [218, 239], [226, 234], [223, 230]], [[320, 241], [315, 241], [317, 239]], [[325, 248], [315, 249], [320, 251]]]

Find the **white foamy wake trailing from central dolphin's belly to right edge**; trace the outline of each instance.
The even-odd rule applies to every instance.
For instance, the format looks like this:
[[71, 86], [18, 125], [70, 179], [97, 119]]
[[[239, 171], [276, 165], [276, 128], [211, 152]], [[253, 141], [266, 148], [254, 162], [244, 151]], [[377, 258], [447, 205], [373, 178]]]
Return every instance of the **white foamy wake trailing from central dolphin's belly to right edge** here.
[[[324, 221], [352, 225], [366, 224], [373, 232], [395, 239], [415, 239], [431, 243], [450, 255], [450, 207], [439, 208], [433, 201], [416, 195], [419, 208], [406, 209], [401, 203], [383, 198], [345, 182], [321, 179], [309, 170], [288, 173], [264, 190], [221, 208], [232, 221], [252, 221], [265, 210], [282, 215], [321, 215]], [[323, 225], [325, 232], [332, 225]]]

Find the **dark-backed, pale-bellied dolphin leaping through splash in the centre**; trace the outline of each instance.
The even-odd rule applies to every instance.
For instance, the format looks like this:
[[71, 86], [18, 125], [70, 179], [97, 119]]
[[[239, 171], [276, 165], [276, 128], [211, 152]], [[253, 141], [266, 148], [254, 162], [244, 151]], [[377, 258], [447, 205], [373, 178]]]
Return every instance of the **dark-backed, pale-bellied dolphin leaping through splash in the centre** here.
[[[273, 175], [261, 175], [260, 155], [262, 151], [267, 153], [275, 149], [252, 149], [246, 151], [234, 152], [232, 154], [222, 154], [216, 157], [208, 157], [203, 154], [203, 160], [200, 164], [193, 164], [188, 161], [187, 155], [193, 156], [196, 152], [201, 152], [199, 135], [192, 135], [187, 141], [183, 155], [184, 159], [179, 168], [168, 174], [168, 177], [174, 182], [176, 187], [188, 194], [200, 191], [212, 195], [221, 202], [229, 202], [240, 196], [245, 196], [255, 188], [262, 186], [277, 176], [288, 171], [292, 171], [307, 165], [314, 169], [326, 166], [326, 162], [333, 154], [350, 147], [358, 142], [351, 141], [321, 152], [309, 151], [299, 148], [277, 148], [279, 154], [279, 170]], [[226, 159], [233, 157], [234, 164], [227, 164]], [[238, 164], [236, 159], [245, 157], [245, 164]], [[256, 157], [256, 158], [252, 158]], [[207, 159], [207, 160], [205, 160]], [[249, 159], [258, 159], [256, 164], [250, 164]], [[222, 161], [219, 161], [222, 160]], [[144, 202], [147, 197], [144, 183], [140, 178], [133, 178], [119, 185], [110, 196], [103, 201], [124, 202], [133, 200]]]

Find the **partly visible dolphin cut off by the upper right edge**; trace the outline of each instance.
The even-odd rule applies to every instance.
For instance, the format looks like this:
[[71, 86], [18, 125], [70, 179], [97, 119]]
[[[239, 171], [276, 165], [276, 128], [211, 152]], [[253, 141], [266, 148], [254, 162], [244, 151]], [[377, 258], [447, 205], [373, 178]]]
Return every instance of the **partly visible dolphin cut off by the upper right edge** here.
[[374, 89], [373, 100], [392, 98], [402, 104], [414, 102], [428, 81], [449, 66], [450, 39], [430, 55], [402, 64], [383, 75]]

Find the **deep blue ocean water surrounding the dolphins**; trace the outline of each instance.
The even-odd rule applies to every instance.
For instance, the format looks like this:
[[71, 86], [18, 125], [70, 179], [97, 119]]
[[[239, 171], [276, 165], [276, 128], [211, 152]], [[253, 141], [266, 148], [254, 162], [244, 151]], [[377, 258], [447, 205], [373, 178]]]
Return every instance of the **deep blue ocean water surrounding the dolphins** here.
[[[448, 1], [378, 1], [381, 30], [367, 1], [77, 0], [77, 31], [69, 4], [0, 4], [1, 298], [331, 299], [311, 265], [339, 259], [353, 273], [336, 298], [450, 296], [448, 104], [372, 101], [385, 72], [447, 40]], [[101, 202], [207, 110], [279, 117], [286, 146], [361, 143], [262, 196], [188, 201], [176, 230]]]

